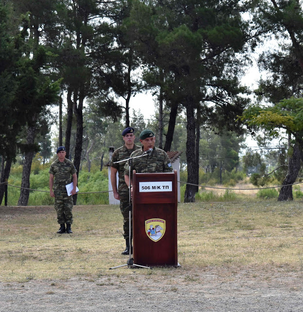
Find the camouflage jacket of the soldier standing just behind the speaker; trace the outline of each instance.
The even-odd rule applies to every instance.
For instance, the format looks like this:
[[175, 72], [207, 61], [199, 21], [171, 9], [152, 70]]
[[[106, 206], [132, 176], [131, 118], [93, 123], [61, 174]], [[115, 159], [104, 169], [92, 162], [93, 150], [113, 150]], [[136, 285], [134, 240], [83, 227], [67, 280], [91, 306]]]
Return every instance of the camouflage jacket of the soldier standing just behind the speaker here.
[[131, 150], [128, 150], [125, 144], [118, 149], [114, 151], [112, 154], [111, 160], [109, 162], [109, 166], [116, 168], [118, 170], [118, 177], [119, 177], [119, 184], [118, 184], [118, 191], [127, 191], [128, 192], [128, 186], [125, 183], [124, 180], [124, 166], [125, 162], [120, 162], [118, 164], [114, 164], [116, 161], [128, 159], [129, 156], [132, 154], [132, 152], [139, 150], [140, 146], [134, 145], [134, 148]]

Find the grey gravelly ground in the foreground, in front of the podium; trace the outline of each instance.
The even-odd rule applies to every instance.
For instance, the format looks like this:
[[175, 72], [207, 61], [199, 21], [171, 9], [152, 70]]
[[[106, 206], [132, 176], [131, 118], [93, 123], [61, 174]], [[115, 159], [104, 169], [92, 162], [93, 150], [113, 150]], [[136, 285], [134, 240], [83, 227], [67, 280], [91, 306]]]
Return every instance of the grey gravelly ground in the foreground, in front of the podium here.
[[[144, 275], [145, 269], [116, 270], [116, 275], [105, 273], [90, 281], [0, 283], [0, 311], [303, 311], [302, 273], [208, 268], [164, 270], [163, 274], [157, 269]], [[132, 274], [121, 277], [119, 270], [132, 270]]]

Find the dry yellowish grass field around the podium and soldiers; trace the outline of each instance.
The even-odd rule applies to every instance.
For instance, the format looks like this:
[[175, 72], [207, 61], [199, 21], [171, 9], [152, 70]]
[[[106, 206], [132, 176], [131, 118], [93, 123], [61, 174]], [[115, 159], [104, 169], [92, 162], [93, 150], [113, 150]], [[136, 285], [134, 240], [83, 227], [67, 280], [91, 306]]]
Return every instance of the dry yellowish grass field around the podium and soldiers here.
[[[132, 276], [118, 206], [75, 206], [73, 234], [58, 230], [53, 207], [0, 207], [0, 280]], [[201, 268], [303, 271], [302, 202], [178, 205], [178, 262], [188, 281]], [[176, 271], [175, 271], [176, 272]], [[157, 270], [142, 270], [142, 274]], [[161, 274], [169, 271], [161, 270]]]

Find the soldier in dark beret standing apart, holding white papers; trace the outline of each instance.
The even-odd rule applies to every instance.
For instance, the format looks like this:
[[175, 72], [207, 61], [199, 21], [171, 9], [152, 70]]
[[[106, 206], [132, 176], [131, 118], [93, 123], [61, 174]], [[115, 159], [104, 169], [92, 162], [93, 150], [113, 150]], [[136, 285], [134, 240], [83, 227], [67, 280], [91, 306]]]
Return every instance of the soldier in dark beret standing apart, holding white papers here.
[[[77, 171], [73, 162], [67, 158], [64, 146], [57, 148], [58, 158], [52, 163], [50, 168], [50, 195], [54, 197], [54, 208], [57, 212], [58, 223], [60, 229], [58, 234], [72, 233], [72, 195], [76, 194]], [[66, 185], [73, 182], [73, 190], [71, 196], [68, 196]], [[66, 223], [66, 228], [65, 228]]]

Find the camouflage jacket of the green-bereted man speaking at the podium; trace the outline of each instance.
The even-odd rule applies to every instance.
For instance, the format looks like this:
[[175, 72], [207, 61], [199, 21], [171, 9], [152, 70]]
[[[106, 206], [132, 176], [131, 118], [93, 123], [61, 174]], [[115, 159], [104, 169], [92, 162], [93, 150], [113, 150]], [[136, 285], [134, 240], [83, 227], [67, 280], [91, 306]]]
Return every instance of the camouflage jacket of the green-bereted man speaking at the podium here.
[[[136, 157], [142, 154], [143, 147], [140, 150], [133, 152], [130, 157]], [[132, 170], [136, 170], [136, 173], [139, 174], [173, 172], [173, 167], [167, 154], [160, 148], [154, 147], [151, 155], [133, 159]], [[128, 163], [125, 164], [124, 174], [125, 176], [129, 175]]]

